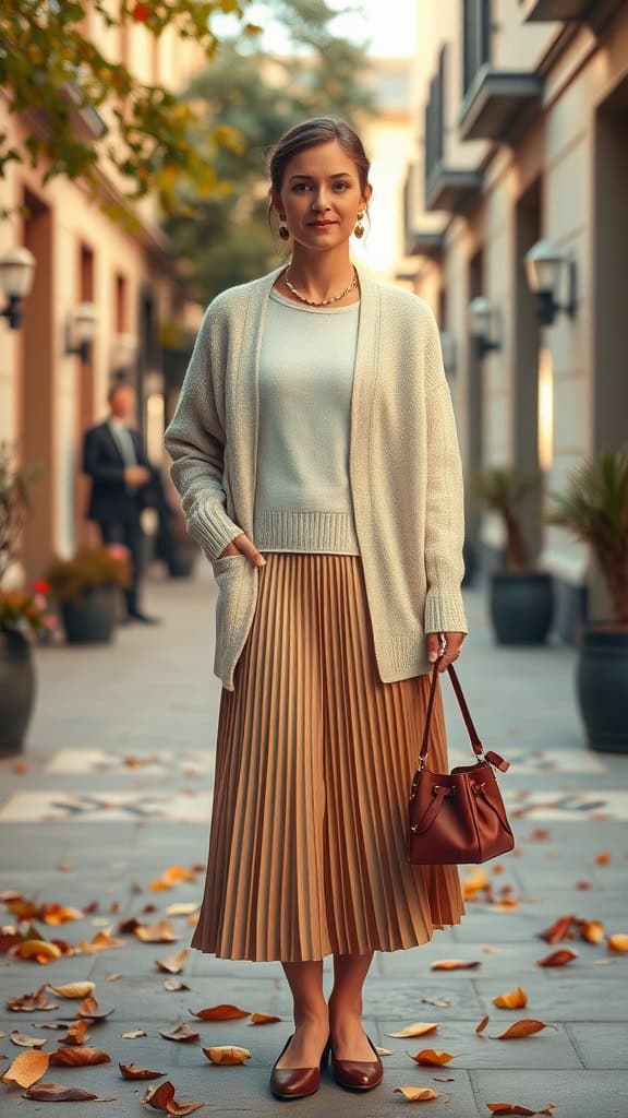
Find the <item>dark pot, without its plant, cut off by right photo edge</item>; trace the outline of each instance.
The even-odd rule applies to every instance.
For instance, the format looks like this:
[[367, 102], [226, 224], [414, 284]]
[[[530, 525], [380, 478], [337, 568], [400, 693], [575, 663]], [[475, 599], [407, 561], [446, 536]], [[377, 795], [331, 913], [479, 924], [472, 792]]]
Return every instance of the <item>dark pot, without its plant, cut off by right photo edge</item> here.
[[627, 629], [582, 628], [577, 693], [591, 749], [628, 754]]

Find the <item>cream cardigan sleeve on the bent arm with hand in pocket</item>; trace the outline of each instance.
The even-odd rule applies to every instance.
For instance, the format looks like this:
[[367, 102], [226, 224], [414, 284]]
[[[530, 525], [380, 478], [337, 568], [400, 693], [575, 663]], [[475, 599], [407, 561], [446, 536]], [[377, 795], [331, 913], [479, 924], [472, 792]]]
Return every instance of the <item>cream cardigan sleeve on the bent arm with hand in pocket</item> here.
[[190, 536], [215, 562], [242, 531], [227, 513], [222, 484], [225, 428], [216, 399], [210, 304], [194, 342], [174, 415], [163, 442], [172, 458], [170, 476], [181, 495]]

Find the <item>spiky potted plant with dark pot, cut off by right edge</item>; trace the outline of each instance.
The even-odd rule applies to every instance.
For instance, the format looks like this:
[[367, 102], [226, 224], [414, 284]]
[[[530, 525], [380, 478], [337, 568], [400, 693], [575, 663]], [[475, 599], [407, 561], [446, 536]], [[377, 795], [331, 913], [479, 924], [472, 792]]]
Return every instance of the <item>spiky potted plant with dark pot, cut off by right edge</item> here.
[[551, 499], [549, 522], [589, 546], [610, 598], [610, 619], [580, 629], [577, 692], [589, 745], [628, 752], [628, 447], [583, 463]]

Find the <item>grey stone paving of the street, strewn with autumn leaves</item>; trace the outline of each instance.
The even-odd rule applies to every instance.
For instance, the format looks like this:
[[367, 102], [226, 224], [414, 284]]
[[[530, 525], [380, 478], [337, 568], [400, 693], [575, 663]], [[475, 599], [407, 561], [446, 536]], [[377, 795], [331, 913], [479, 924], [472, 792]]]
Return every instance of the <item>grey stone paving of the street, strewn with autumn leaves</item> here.
[[[116, 935], [118, 922], [131, 917], [144, 922], [169, 918], [178, 936], [174, 944], [145, 944], [125, 935], [123, 948], [63, 957], [49, 966], [2, 957], [0, 1054], [8, 1058], [0, 1061], [2, 1071], [25, 1051], [11, 1043], [11, 1031], [46, 1036], [45, 1051], [54, 1051], [63, 1034], [42, 1024], [73, 1020], [78, 1005], [11, 1013], [6, 998], [45, 983], [92, 979], [101, 1006], [115, 1010], [91, 1029], [92, 1043], [111, 1054], [111, 1064], [51, 1068], [44, 1077], [115, 1097], [75, 1102], [70, 1114], [153, 1112], [140, 1101], [149, 1084], [124, 1081], [118, 1061], [165, 1072], [180, 1101], [204, 1103], [200, 1115], [276, 1114], [283, 1107], [267, 1087], [272, 1063], [292, 1031], [279, 964], [190, 951], [181, 976], [189, 991], [166, 991], [168, 976], [154, 965], [185, 947], [191, 931], [188, 916], [168, 917], [166, 908], [197, 902], [202, 884], [198, 872], [193, 881], [165, 891], [149, 888], [168, 866], [198, 866], [207, 850], [220, 694], [211, 671], [213, 594], [207, 569], [179, 584], [164, 580], [155, 568], [145, 605], [164, 618], [159, 629], [121, 628], [108, 647], [39, 650], [38, 705], [28, 749], [18, 759], [28, 770], [15, 759], [0, 765], [0, 891], [19, 890], [37, 902], [99, 903], [97, 911], [61, 928], [39, 922], [46, 939], [76, 944], [103, 929]], [[392, 1050], [384, 1057], [383, 1083], [352, 1095], [326, 1073], [315, 1096], [285, 1103], [298, 1115], [399, 1114], [413, 1103], [393, 1089], [419, 1084], [439, 1095], [420, 1106], [451, 1118], [486, 1116], [488, 1102], [506, 1101], [531, 1110], [555, 1103], [558, 1118], [625, 1118], [628, 1112], [628, 955], [608, 951], [606, 941], [572, 939], [551, 947], [537, 935], [565, 915], [602, 920], [605, 934], [628, 932], [628, 760], [584, 746], [571, 650], [498, 650], [480, 588], [467, 591], [467, 607], [472, 636], [459, 674], [485, 745], [512, 761], [499, 779], [517, 845], [483, 868], [493, 899], [486, 891], [472, 893], [459, 926], [436, 932], [421, 948], [375, 955], [364, 1006], [368, 1032]], [[454, 761], [468, 747], [450, 689], [446, 703]], [[610, 859], [598, 860], [600, 854]], [[477, 872], [465, 868], [463, 879], [473, 883]], [[504, 900], [515, 904], [499, 906]], [[142, 913], [145, 904], [156, 910]], [[12, 917], [7, 913], [3, 922]], [[568, 965], [536, 965], [565, 946], [578, 953]], [[479, 965], [430, 969], [439, 959]], [[112, 975], [121, 977], [107, 980]], [[524, 1010], [493, 1005], [496, 995], [520, 985], [529, 997]], [[251, 1026], [247, 1018], [212, 1023], [190, 1015], [218, 1003], [277, 1014], [282, 1021]], [[489, 1022], [478, 1034], [485, 1014]], [[554, 1027], [518, 1040], [492, 1039], [531, 1017]], [[160, 1035], [184, 1020], [198, 1026], [200, 1041], [174, 1043]], [[438, 1029], [409, 1040], [387, 1035], [418, 1021]], [[122, 1036], [135, 1030], [146, 1035]], [[253, 1059], [242, 1067], [215, 1067], [202, 1054], [211, 1044], [246, 1046]], [[447, 1067], [418, 1067], [408, 1053], [424, 1048], [455, 1059]], [[47, 1109], [8, 1084], [0, 1086], [0, 1105], [7, 1118]]]

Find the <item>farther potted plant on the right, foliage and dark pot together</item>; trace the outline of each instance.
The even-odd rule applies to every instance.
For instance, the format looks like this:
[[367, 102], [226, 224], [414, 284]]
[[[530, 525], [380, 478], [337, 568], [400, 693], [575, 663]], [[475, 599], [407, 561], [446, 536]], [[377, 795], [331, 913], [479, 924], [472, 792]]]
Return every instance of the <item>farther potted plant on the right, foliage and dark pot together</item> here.
[[552, 624], [552, 579], [533, 567], [518, 515], [524, 499], [540, 483], [540, 477], [521, 477], [499, 466], [485, 470], [477, 480], [478, 496], [502, 518], [505, 532], [505, 568], [492, 572], [489, 586], [498, 644], [544, 644]]

